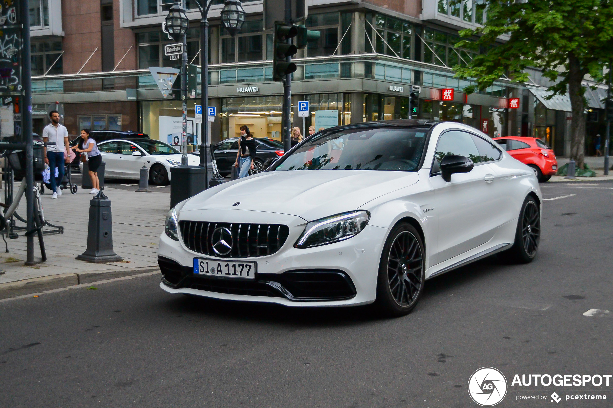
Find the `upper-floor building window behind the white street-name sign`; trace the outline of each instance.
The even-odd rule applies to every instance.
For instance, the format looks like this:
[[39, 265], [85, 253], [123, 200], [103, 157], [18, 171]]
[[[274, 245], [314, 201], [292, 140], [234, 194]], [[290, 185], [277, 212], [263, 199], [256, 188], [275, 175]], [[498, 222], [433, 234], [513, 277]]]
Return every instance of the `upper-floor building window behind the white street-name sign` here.
[[[200, 31], [199, 28], [189, 28], [187, 31], [188, 37], [188, 63], [200, 64]], [[164, 55], [164, 45], [175, 43], [175, 40], [168, 38], [168, 35], [162, 31], [147, 31], [139, 32], [136, 35], [139, 43], [139, 68], [147, 69], [149, 67], [174, 67], [180, 65], [181, 61], [170, 61], [169, 57]], [[194, 59], [194, 57], [197, 58]], [[193, 61], [193, 62], [192, 62]]]

